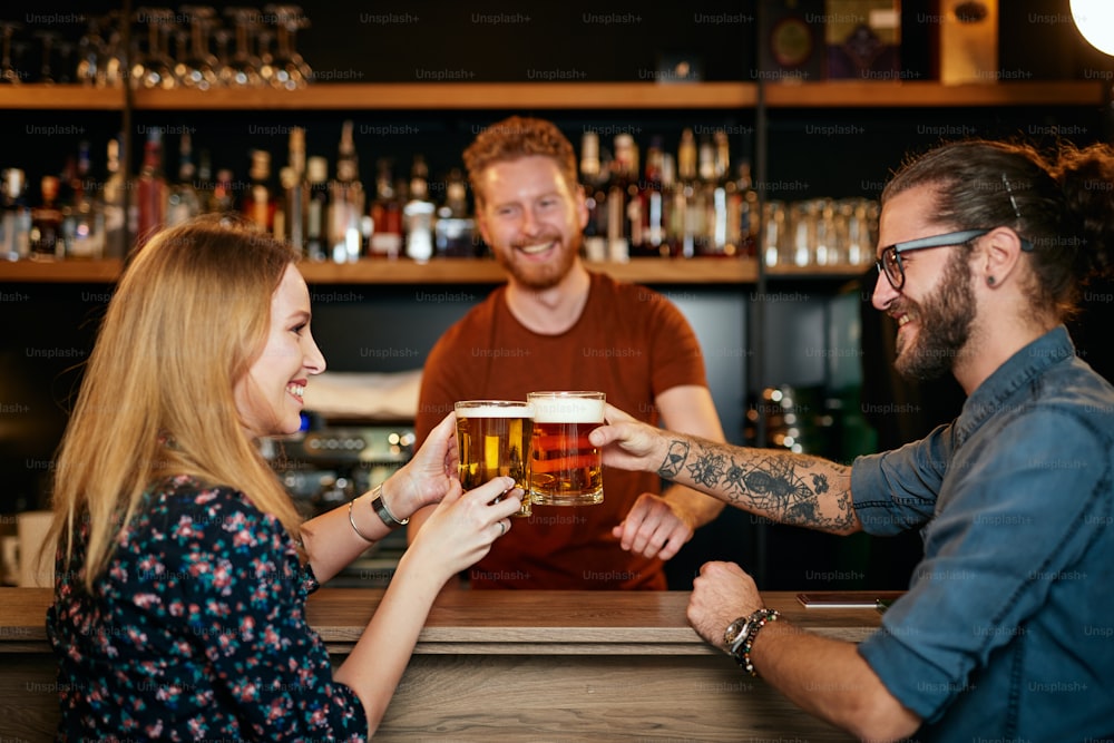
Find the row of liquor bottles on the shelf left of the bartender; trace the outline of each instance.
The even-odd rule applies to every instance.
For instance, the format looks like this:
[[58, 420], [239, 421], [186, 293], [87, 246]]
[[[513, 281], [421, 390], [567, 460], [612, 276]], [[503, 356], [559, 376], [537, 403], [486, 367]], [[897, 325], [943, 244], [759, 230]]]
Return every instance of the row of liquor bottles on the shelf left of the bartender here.
[[467, 186], [459, 168], [449, 174], [444, 199], [436, 205], [430, 201], [429, 173], [421, 155], [414, 156], [409, 182], [394, 179], [391, 162], [380, 159], [375, 190], [369, 198], [359, 178], [351, 121], [342, 128], [332, 179], [326, 158], [306, 158], [301, 128], [290, 131], [278, 188], [272, 182], [266, 150], [251, 153], [246, 183], [235, 180], [227, 168], [218, 169], [213, 178], [207, 153], [195, 165], [188, 130], [179, 139], [177, 179], [168, 180], [162, 131], [150, 128], [138, 176], [125, 178], [119, 141], [114, 139], [108, 144], [107, 177], [97, 182], [90, 177], [88, 143], [81, 143], [78, 156], [60, 176], [42, 177], [40, 198], [33, 205], [23, 170], [3, 170], [0, 257], [123, 257], [133, 244], [143, 245], [160, 227], [204, 213], [237, 213], [261, 232], [299, 246], [312, 261], [344, 263], [403, 254], [426, 261], [434, 253], [475, 256], [481, 250], [473, 239]]

